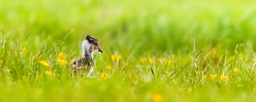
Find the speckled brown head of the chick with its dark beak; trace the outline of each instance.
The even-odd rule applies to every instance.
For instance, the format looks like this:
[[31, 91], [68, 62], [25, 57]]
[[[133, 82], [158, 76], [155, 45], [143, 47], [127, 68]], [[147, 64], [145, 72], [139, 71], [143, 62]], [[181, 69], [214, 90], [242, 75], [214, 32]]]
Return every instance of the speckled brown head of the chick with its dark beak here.
[[87, 48], [89, 48], [88, 50], [90, 50], [91, 52], [94, 52], [94, 51], [103, 52], [100, 49], [99, 41], [96, 38], [92, 37], [91, 35], [87, 35], [85, 40], [87, 40], [89, 43], [89, 45], [88, 44], [85, 45]]

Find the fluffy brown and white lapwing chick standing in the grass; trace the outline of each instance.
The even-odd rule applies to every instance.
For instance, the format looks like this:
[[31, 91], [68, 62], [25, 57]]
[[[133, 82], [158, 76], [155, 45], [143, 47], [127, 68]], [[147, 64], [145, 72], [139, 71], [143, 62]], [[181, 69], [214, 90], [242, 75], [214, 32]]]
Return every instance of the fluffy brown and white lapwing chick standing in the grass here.
[[79, 70], [83, 70], [84, 72], [89, 71], [88, 75], [93, 71], [91, 65], [93, 65], [93, 53], [94, 52], [103, 52], [100, 49], [99, 41], [92, 37], [91, 35], [87, 35], [85, 40], [82, 43], [83, 49], [83, 57], [76, 59], [70, 67], [74, 70], [75, 73]]

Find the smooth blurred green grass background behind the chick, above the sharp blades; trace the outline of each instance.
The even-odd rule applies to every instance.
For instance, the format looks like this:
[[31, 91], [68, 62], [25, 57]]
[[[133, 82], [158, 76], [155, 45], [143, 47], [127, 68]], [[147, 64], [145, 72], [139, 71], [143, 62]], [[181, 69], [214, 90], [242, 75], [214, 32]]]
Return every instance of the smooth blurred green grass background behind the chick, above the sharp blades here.
[[[0, 3], [1, 29], [12, 40], [37, 38], [34, 46], [51, 44], [47, 36], [41, 36], [46, 34], [57, 44], [65, 42], [80, 49], [81, 42], [90, 34], [98, 38], [105, 51], [126, 52], [134, 48], [140, 49], [134, 52], [136, 55], [154, 55], [187, 53], [193, 48], [193, 39], [199, 49], [217, 44], [234, 49], [236, 44], [247, 41], [254, 44], [256, 37], [253, 0], [2, 0]], [[73, 32], [64, 39], [70, 31]], [[66, 45], [63, 50], [70, 51], [66, 47], [70, 48]]]

